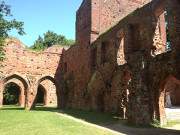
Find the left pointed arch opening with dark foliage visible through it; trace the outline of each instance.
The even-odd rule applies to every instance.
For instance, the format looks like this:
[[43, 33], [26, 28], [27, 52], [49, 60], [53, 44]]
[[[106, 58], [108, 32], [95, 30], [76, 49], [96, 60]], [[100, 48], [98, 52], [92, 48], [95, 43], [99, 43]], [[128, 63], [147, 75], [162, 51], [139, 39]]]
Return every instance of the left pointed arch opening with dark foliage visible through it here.
[[21, 105], [21, 87], [13, 82], [5, 85], [3, 91], [3, 105]]

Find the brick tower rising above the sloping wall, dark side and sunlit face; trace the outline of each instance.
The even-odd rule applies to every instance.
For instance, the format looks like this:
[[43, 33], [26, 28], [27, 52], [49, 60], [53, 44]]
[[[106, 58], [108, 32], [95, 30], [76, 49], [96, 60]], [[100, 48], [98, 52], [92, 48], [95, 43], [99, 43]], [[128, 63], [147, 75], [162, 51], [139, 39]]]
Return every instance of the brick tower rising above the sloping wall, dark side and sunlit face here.
[[76, 40], [92, 43], [107, 29], [151, 0], [84, 0], [76, 17]]

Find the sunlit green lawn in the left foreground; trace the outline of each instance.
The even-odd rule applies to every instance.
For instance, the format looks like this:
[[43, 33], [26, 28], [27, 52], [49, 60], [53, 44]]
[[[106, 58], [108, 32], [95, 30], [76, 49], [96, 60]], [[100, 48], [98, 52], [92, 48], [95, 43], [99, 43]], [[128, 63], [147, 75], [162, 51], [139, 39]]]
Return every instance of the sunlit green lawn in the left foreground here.
[[[3, 107], [0, 109], [0, 135], [113, 135], [108, 131], [61, 117], [55, 113], [57, 111], [54, 108], [26, 111], [14, 106]], [[82, 113], [82, 116], [84, 115]], [[102, 122], [101, 118], [100, 121]]]

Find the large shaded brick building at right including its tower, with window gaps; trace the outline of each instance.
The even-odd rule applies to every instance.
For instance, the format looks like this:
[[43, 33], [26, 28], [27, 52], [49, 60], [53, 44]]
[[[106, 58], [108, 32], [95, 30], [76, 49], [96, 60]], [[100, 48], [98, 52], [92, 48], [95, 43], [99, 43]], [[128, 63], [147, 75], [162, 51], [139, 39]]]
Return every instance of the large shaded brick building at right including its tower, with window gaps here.
[[81, 36], [60, 64], [64, 106], [165, 124], [168, 81], [179, 87], [179, 9], [178, 0], [84, 0], [76, 22]]

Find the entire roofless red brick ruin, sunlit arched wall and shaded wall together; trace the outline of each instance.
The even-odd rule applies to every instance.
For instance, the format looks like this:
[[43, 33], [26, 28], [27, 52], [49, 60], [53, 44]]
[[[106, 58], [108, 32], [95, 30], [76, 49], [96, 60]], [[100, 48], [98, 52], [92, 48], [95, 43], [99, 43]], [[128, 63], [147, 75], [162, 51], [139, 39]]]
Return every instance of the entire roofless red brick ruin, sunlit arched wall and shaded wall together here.
[[7, 41], [0, 105], [13, 82], [28, 109], [57, 104], [166, 124], [165, 107], [180, 105], [179, 44], [179, 0], [83, 0], [69, 49], [35, 53]]

